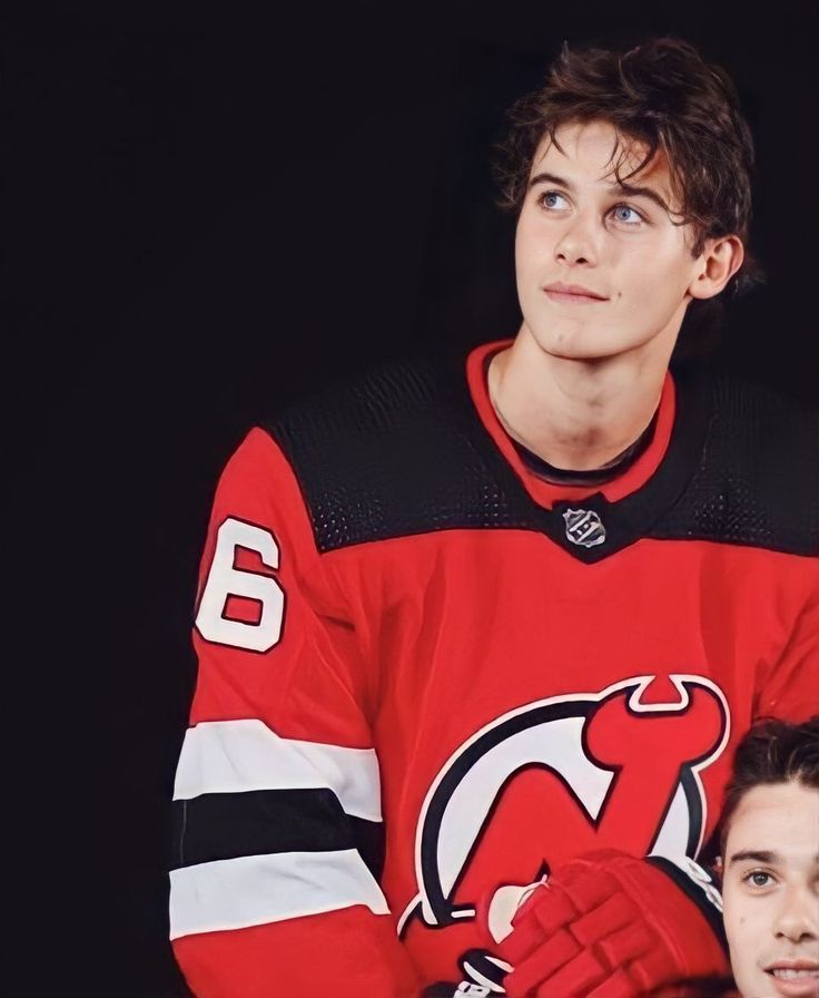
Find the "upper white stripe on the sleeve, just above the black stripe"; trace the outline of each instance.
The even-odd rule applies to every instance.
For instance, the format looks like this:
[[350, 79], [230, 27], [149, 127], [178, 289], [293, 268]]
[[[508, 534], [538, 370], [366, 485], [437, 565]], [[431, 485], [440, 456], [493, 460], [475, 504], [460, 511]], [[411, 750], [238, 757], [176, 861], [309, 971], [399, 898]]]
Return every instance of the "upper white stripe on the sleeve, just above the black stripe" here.
[[282, 738], [256, 718], [207, 721], [185, 734], [174, 800], [324, 787], [335, 793], [347, 814], [382, 820], [375, 750]]

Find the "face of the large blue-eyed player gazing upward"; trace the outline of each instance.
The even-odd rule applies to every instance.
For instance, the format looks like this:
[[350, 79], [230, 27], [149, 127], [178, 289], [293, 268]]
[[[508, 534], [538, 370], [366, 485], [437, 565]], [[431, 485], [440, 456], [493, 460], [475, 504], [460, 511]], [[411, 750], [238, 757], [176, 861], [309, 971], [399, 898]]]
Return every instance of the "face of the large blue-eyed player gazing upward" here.
[[[517, 222], [524, 326], [554, 356], [610, 358], [652, 341], [670, 355], [702, 264], [691, 256], [691, 226], [672, 223], [680, 218], [665, 157], [658, 153], [624, 189], [614, 177], [620, 146], [611, 125], [568, 124], [556, 138], [563, 153], [547, 138], [535, 153]], [[622, 176], [643, 151], [633, 146]], [[600, 299], [545, 290], [555, 283]]]

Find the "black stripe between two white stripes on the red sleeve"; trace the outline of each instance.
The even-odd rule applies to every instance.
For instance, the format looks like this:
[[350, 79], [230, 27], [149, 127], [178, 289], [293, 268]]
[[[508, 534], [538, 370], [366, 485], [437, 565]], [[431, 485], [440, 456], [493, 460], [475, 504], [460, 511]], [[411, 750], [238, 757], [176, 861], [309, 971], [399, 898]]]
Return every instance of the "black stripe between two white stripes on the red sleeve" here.
[[384, 865], [384, 825], [346, 814], [317, 790], [206, 793], [174, 801], [172, 868], [272, 852], [357, 849], [376, 880]]

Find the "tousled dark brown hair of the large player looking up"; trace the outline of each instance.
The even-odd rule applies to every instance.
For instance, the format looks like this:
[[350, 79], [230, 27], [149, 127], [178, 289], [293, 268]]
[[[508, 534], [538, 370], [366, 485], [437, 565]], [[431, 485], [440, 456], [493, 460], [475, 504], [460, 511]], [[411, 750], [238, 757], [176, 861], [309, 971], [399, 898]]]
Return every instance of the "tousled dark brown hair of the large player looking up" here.
[[[509, 134], [497, 148], [495, 178], [501, 205], [520, 212], [541, 140], [561, 125], [603, 120], [619, 137], [618, 180], [639, 173], [665, 153], [681, 221], [693, 228], [692, 256], [709, 237], [737, 234], [748, 242], [751, 221], [753, 139], [736, 87], [719, 66], [702, 60], [679, 38], [654, 38], [624, 53], [591, 48], [571, 51], [566, 42], [545, 85], [509, 110]], [[639, 165], [621, 176], [634, 141], [645, 146]], [[562, 151], [562, 150], [561, 150]], [[740, 274], [742, 280], [740, 281]], [[733, 290], [763, 280], [747, 252]]]

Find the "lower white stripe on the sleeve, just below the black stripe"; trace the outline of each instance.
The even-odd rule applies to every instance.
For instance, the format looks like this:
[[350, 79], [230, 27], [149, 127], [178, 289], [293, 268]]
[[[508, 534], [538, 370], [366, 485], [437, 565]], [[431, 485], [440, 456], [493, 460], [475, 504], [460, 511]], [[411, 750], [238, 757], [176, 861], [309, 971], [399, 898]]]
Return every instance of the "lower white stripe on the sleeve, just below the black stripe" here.
[[355, 849], [277, 852], [182, 867], [170, 873], [170, 938], [278, 922], [366, 904], [389, 907]]

